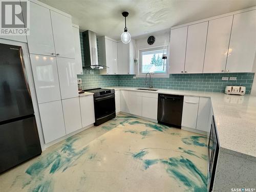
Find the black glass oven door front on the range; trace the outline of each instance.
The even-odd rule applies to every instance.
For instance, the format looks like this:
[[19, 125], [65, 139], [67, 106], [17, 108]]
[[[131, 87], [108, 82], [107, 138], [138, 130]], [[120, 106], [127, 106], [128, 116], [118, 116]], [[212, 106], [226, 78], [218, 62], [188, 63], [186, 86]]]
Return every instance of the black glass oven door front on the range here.
[[116, 111], [115, 95], [95, 98], [94, 110], [96, 119], [114, 113]]

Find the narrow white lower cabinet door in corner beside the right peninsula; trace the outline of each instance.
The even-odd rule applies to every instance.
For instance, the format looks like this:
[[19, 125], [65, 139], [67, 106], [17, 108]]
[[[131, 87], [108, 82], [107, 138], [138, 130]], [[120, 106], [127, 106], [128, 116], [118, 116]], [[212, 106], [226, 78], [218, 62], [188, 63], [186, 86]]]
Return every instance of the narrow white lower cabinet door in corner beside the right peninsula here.
[[[210, 98], [200, 97], [198, 115], [197, 115], [197, 130], [209, 132], [209, 117], [210, 117], [211, 102]], [[211, 118], [210, 118], [211, 119]]]

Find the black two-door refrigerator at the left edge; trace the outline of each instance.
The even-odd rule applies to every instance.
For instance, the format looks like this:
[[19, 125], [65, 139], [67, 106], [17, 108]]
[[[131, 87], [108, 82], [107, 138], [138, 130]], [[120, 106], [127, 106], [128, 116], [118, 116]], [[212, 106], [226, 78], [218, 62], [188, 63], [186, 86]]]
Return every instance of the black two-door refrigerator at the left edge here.
[[0, 44], [0, 173], [40, 154], [22, 47]]

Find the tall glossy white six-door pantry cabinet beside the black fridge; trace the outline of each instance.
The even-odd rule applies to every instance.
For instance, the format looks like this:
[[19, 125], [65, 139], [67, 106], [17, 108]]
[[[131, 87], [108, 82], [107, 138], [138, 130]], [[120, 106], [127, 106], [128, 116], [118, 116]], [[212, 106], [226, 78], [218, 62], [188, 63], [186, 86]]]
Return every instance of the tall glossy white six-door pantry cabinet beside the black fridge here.
[[49, 143], [82, 128], [76, 77], [81, 62], [75, 54], [80, 41], [74, 39], [79, 30], [73, 29], [68, 14], [41, 3], [31, 2], [30, 6], [28, 47], [42, 132]]

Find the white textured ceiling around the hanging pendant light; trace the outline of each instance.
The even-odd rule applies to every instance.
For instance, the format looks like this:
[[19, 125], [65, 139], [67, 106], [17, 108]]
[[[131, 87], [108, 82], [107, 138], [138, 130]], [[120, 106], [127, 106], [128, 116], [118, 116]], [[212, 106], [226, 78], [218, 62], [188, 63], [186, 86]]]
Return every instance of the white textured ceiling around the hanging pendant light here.
[[255, 0], [39, 0], [73, 16], [80, 31], [120, 39], [123, 11], [133, 38], [172, 26], [256, 6]]

